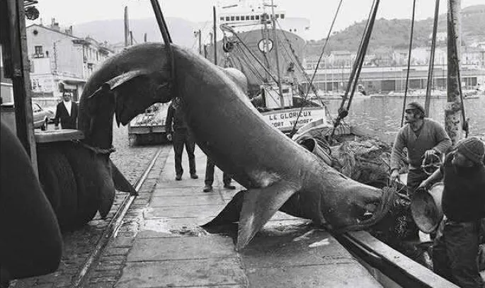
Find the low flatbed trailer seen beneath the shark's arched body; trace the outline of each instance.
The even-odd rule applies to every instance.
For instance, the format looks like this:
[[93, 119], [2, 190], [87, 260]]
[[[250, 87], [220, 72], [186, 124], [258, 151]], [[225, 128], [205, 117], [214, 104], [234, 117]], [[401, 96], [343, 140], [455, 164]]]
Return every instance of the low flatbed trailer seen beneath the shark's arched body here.
[[169, 103], [155, 103], [128, 123], [128, 139], [133, 144], [167, 142], [165, 120]]

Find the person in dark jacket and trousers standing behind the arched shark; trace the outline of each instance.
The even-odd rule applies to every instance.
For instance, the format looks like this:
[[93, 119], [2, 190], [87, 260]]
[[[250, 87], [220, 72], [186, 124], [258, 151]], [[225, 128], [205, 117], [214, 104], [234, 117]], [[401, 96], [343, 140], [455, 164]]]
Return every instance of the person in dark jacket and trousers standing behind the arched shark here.
[[173, 141], [173, 151], [175, 152], [175, 180], [182, 180], [182, 152], [184, 144], [188, 156], [190, 178], [199, 178], [195, 172], [195, 141], [184, 119], [181, 98], [174, 98], [172, 100], [166, 114], [165, 129], [167, 139]]

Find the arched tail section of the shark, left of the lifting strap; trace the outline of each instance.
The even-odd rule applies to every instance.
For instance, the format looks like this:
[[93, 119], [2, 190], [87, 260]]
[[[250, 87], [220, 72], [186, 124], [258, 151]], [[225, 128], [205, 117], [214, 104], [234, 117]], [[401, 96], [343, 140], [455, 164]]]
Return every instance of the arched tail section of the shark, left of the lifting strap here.
[[112, 141], [105, 138], [112, 136], [113, 114], [118, 125], [127, 125], [152, 104], [169, 102], [171, 86], [171, 63], [164, 45], [127, 48], [108, 59], [86, 83], [79, 103], [79, 129], [87, 142], [107, 146]]

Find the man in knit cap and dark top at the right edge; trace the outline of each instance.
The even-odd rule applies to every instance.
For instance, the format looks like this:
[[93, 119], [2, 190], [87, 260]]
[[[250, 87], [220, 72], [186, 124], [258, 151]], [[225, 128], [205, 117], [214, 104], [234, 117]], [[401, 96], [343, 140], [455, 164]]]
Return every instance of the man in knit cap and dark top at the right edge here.
[[433, 270], [460, 287], [485, 287], [479, 274], [480, 222], [485, 217], [485, 146], [476, 137], [458, 142], [420, 188], [443, 178], [443, 233], [433, 243]]

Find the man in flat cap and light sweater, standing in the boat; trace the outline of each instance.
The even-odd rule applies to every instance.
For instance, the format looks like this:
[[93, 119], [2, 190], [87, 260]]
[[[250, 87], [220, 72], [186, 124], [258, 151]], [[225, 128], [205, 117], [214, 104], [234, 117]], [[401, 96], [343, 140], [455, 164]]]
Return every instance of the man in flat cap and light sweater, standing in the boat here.
[[[409, 173], [407, 178], [407, 194], [411, 197], [418, 185], [428, 178], [421, 169], [423, 158], [432, 154], [445, 154], [452, 142], [446, 134], [445, 128], [438, 122], [425, 118], [424, 108], [417, 102], [406, 105], [406, 125], [399, 129], [391, 153], [391, 180], [399, 178], [399, 161], [404, 152], [408, 150], [407, 161]], [[411, 238], [418, 237], [418, 227], [411, 227]]]

